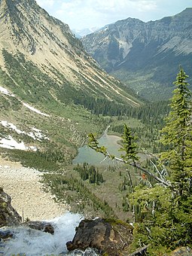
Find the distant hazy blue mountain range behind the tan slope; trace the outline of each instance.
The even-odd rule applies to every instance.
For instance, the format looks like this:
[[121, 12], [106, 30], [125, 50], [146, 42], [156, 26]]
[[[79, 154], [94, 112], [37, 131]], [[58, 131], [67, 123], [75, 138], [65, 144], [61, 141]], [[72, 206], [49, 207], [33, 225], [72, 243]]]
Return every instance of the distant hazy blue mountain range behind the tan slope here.
[[[107, 72], [148, 99], [171, 96], [178, 66], [191, 74], [192, 8], [144, 23], [128, 18], [81, 39]], [[191, 76], [191, 75], [190, 75]]]

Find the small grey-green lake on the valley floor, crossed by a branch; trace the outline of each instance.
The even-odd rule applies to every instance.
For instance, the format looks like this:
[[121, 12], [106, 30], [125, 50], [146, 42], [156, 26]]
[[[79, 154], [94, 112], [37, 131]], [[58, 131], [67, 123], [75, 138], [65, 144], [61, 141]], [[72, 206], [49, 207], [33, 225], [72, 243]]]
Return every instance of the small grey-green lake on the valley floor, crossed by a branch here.
[[[120, 137], [108, 135], [108, 128], [104, 131], [101, 138], [98, 139], [99, 145], [104, 145], [108, 148], [108, 152], [114, 154], [115, 156], [120, 156], [120, 145], [117, 143], [120, 141]], [[94, 151], [92, 148], [84, 145], [78, 148], [78, 155], [73, 160], [73, 164], [77, 163], [89, 163], [93, 165], [111, 165], [110, 160], [104, 160], [104, 156], [101, 153]]]

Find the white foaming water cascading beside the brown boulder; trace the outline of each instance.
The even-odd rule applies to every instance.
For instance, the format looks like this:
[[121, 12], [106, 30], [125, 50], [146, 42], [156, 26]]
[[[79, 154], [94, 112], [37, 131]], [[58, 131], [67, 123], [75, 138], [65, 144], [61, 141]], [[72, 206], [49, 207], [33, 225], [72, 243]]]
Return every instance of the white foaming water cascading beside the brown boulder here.
[[[54, 227], [54, 234], [32, 230], [29, 227], [4, 228], [11, 230], [14, 237], [6, 242], [0, 242], [0, 255], [11, 256], [43, 256], [43, 255], [90, 255], [96, 256], [95, 251], [87, 250], [68, 252], [66, 242], [73, 239], [75, 227], [83, 217], [70, 212], [49, 221]], [[1, 230], [1, 229], [0, 229]]]

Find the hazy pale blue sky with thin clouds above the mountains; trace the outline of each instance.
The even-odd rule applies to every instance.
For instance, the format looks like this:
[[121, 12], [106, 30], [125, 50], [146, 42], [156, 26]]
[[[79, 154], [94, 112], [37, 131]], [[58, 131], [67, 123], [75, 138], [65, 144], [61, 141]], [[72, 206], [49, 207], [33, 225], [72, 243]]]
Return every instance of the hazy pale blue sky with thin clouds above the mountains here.
[[192, 7], [191, 0], [36, 0], [70, 29], [102, 27], [128, 17], [159, 20]]

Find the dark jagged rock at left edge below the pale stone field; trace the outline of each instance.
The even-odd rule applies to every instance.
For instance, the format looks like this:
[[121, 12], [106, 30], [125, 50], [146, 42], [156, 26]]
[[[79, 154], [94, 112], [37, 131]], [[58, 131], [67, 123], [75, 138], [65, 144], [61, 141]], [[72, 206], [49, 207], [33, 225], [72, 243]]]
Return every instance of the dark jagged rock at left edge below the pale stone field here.
[[11, 206], [11, 197], [0, 187], [0, 227], [18, 225], [20, 215]]

